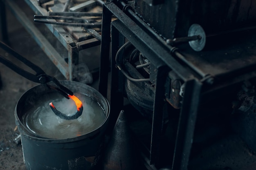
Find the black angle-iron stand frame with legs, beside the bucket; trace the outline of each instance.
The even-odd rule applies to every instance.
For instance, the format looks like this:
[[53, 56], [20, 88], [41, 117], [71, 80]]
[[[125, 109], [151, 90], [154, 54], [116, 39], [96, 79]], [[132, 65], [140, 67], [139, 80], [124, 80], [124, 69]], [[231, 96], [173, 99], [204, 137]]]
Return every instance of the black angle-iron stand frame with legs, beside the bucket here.
[[[112, 15], [118, 20], [111, 22]], [[159, 39], [152, 35], [148, 28], [140, 22], [136, 23], [117, 7], [114, 2], [107, 2], [103, 6], [103, 25], [102, 28], [102, 44], [101, 45], [101, 65], [100, 65], [100, 82], [99, 91], [104, 96], [107, 95], [108, 68], [106, 63], [109, 59], [110, 49], [110, 33], [111, 33], [111, 99], [110, 107], [113, 117], [117, 117], [118, 111], [121, 109], [123, 95], [121, 95], [122, 84], [119, 76], [117, 76], [117, 68], [115, 68], [115, 54], [124, 41], [118, 41], [124, 37], [129, 40], [141, 53], [147, 56], [151, 64], [154, 65], [156, 82], [155, 82], [155, 99], [153, 110], [153, 124], [151, 133], [150, 153], [146, 154], [150, 159], [150, 165], [159, 163], [159, 148], [161, 145], [160, 137], [163, 127], [163, 99], [164, 84], [168, 71], [175, 71], [186, 82], [183, 106], [180, 113], [180, 121], [178, 125], [177, 140], [174, 159], [170, 160], [173, 164], [173, 170], [186, 170], [189, 162], [189, 155], [193, 141], [193, 132], [195, 128], [195, 120], [200, 101], [200, 93], [202, 83], [195, 78], [184, 66], [180, 65], [171, 55], [171, 51], [166, 48], [165, 44], [159, 42]], [[112, 29], [111, 29], [112, 28]], [[119, 107], [118, 107], [119, 106]], [[115, 122], [115, 120], [112, 120]]]

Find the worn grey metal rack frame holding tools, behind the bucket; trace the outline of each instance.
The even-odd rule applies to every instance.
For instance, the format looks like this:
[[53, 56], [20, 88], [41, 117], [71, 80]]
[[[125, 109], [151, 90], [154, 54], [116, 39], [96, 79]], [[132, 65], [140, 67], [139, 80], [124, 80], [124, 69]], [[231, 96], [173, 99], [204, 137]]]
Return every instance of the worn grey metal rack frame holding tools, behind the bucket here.
[[[25, 2], [29, 5], [29, 7], [38, 15], [48, 15], [48, 11], [38, 5], [36, 0], [25, 0]], [[5, 5], [3, 5], [5, 4]], [[59, 52], [54, 49], [54, 47], [49, 43], [49, 41], [45, 38], [45, 36], [37, 29], [33, 22], [31, 22], [24, 11], [18, 7], [14, 0], [0, 0], [1, 7], [1, 27], [3, 40], [8, 40], [7, 37], [7, 29], [4, 28], [6, 26], [5, 11], [4, 6], [8, 7], [13, 15], [20, 21], [22, 26], [27, 30], [27, 32], [36, 40], [41, 49], [45, 52], [45, 54], [49, 57], [50, 60], [56, 65], [58, 70], [65, 76], [68, 80], [74, 79], [74, 65], [78, 63], [78, 55], [79, 51], [83, 49], [87, 49], [93, 46], [97, 46], [101, 44], [101, 41], [96, 38], [92, 38], [89, 40], [76, 42], [72, 39], [71, 35], [67, 33], [63, 29], [62, 26], [56, 26], [52, 24], [46, 24], [47, 28], [54, 34], [54, 36], [58, 39], [59, 42], [67, 49], [68, 52], [68, 62], [65, 61]]]

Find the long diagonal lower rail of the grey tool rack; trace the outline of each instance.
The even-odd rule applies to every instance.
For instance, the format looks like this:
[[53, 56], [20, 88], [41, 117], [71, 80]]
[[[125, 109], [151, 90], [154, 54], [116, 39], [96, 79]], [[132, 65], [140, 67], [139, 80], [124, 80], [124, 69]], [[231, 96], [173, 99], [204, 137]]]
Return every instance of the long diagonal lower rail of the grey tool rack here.
[[33, 23], [30, 22], [25, 13], [16, 5], [15, 2], [13, 2], [13, 0], [5, 1], [5, 4], [9, 7], [12, 13], [24, 26], [27, 32], [31, 34], [34, 40], [36, 40], [40, 48], [43, 49], [45, 54], [49, 57], [50, 60], [52, 60], [56, 67], [66, 77], [66, 79], [70, 79], [70, 73], [68, 72], [68, 64], [52, 47], [52, 45], [48, 42], [45, 36], [36, 28], [36, 26], [34, 26]]

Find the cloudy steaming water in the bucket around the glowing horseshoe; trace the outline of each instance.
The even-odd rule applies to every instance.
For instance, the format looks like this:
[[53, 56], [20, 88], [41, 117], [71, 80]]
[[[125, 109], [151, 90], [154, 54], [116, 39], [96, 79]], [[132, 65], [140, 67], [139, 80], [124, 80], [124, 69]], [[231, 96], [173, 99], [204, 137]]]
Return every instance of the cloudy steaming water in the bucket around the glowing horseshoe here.
[[104, 110], [91, 97], [82, 94], [76, 96], [83, 103], [82, 115], [74, 120], [65, 120], [56, 116], [49, 102], [53, 102], [59, 111], [66, 115], [73, 115], [77, 108], [72, 99], [63, 96], [44, 95], [34, 108], [23, 115], [23, 124], [35, 135], [51, 139], [66, 139], [85, 135], [98, 128], [105, 119]]

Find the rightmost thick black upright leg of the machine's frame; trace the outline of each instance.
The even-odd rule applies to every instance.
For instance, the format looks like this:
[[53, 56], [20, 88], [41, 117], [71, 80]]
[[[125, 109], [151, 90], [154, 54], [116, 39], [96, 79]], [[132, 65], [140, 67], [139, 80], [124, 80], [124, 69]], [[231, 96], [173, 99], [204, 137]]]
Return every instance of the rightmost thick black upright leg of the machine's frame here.
[[196, 79], [191, 79], [185, 84], [172, 170], [187, 170], [200, 103], [201, 88], [202, 83]]

